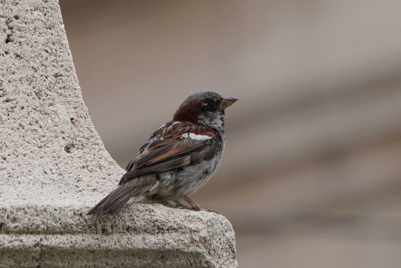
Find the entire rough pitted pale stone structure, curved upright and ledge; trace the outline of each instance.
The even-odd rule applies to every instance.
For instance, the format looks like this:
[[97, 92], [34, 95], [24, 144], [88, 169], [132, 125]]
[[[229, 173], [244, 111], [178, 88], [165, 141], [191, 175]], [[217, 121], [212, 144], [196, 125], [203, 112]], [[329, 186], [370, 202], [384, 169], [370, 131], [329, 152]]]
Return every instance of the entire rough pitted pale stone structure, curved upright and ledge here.
[[85, 215], [124, 170], [83, 103], [59, 4], [0, 8], [0, 266], [237, 266], [221, 215], [139, 201]]

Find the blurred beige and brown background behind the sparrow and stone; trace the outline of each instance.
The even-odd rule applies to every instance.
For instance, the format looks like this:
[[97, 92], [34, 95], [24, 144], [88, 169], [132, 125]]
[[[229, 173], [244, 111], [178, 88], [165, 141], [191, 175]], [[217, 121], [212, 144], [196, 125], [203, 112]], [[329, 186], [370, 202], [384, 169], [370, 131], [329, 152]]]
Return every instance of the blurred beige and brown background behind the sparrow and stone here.
[[231, 221], [241, 267], [401, 266], [401, 1], [60, 5], [123, 168], [188, 95], [239, 98], [192, 197]]

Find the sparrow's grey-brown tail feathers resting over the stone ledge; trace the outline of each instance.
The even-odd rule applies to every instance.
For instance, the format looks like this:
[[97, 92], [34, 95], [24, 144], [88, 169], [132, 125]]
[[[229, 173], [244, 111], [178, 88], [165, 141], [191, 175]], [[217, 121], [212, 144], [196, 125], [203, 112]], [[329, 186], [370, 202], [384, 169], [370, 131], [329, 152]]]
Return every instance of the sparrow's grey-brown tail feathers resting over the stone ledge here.
[[119, 213], [122, 207], [138, 192], [137, 187], [126, 187], [126, 184], [119, 186], [113, 192], [109, 193], [103, 198], [87, 215], [93, 215], [100, 211], [107, 214], [115, 215]]

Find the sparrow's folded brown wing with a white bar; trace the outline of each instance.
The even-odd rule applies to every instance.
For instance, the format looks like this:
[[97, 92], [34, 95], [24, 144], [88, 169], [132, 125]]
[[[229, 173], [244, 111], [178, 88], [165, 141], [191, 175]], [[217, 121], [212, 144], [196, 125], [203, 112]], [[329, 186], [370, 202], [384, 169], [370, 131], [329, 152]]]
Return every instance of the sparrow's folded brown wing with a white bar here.
[[156, 131], [130, 161], [128, 172], [119, 184], [146, 173], [196, 164], [216, 155], [219, 136], [210, 127], [170, 122]]

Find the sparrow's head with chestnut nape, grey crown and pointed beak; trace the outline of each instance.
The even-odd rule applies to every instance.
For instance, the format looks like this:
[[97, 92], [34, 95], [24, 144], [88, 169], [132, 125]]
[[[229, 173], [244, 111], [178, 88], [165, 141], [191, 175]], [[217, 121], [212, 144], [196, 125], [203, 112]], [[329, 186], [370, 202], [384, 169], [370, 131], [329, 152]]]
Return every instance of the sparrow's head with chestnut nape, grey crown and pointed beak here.
[[224, 109], [238, 99], [220, 96], [215, 92], [192, 94], [176, 110], [174, 121], [190, 121], [201, 125], [220, 128], [224, 125]]

